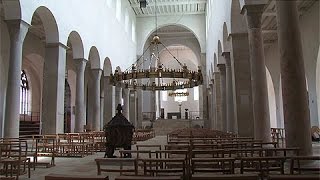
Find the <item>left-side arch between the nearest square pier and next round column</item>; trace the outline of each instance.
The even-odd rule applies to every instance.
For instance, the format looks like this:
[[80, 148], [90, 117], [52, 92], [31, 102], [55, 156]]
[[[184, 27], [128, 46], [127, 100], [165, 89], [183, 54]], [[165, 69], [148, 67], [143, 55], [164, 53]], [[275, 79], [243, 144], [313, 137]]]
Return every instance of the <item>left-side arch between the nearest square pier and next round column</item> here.
[[81, 59], [84, 58], [84, 48], [81, 36], [77, 31], [72, 31], [68, 37], [68, 45], [72, 47], [72, 56], [73, 59]]

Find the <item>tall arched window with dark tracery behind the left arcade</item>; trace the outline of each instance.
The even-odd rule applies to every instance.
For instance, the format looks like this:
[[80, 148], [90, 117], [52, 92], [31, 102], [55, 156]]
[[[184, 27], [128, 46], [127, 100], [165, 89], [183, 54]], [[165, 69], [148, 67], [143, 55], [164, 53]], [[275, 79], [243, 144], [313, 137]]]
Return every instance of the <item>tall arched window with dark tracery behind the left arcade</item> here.
[[20, 114], [29, 112], [29, 81], [24, 70], [21, 71], [20, 81]]

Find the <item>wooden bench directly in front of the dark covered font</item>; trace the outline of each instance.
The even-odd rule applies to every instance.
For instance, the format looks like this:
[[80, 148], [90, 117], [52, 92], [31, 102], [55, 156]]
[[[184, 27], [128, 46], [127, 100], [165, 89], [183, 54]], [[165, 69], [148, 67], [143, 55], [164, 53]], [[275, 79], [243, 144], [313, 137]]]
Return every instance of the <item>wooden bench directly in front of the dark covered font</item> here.
[[[124, 172], [131, 172], [134, 175], [138, 174], [137, 159], [135, 158], [96, 158], [95, 162], [97, 164], [97, 174], [101, 175], [101, 172], [120, 172], [122, 175]], [[113, 163], [113, 164], [112, 164]], [[119, 168], [101, 168], [101, 165], [113, 165], [119, 166]], [[114, 165], [115, 164], [115, 165]], [[129, 165], [128, 165], [129, 164]], [[123, 168], [124, 166], [130, 168]]]

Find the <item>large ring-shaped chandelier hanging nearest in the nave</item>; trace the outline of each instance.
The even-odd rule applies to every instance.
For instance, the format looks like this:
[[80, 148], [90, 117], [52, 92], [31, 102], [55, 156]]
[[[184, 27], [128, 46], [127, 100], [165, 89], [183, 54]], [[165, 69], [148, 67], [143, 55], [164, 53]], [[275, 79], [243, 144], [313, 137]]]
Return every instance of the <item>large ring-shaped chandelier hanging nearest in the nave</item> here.
[[[141, 3], [141, 1], [140, 1]], [[144, 50], [143, 54], [124, 72], [117, 69], [114, 74], [110, 75], [110, 82], [115, 86], [130, 89], [142, 89], [149, 91], [157, 90], [176, 90], [184, 88], [193, 88], [201, 85], [203, 82], [201, 68], [197, 71], [191, 71], [186, 64], [182, 64], [168, 48], [160, 41], [158, 36], [158, 19], [157, 19], [157, 1], [155, 0], [155, 23], [156, 31], [149, 46]], [[160, 61], [160, 46], [163, 50], [167, 51], [174, 61], [180, 66], [179, 69], [171, 69], [165, 67]], [[146, 60], [146, 52], [151, 48], [151, 55], [149, 56], [150, 66], [148, 69], [139, 68]]]

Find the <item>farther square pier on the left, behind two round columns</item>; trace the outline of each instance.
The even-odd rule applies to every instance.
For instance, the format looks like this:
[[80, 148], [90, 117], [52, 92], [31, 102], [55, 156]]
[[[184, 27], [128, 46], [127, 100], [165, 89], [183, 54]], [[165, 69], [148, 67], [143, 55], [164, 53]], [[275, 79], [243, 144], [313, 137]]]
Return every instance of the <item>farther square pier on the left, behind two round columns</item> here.
[[103, 125], [105, 125], [112, 119], [113, 86], [110, 84], [109, 76], [104, 76], [103, 80], [104, 80]]

